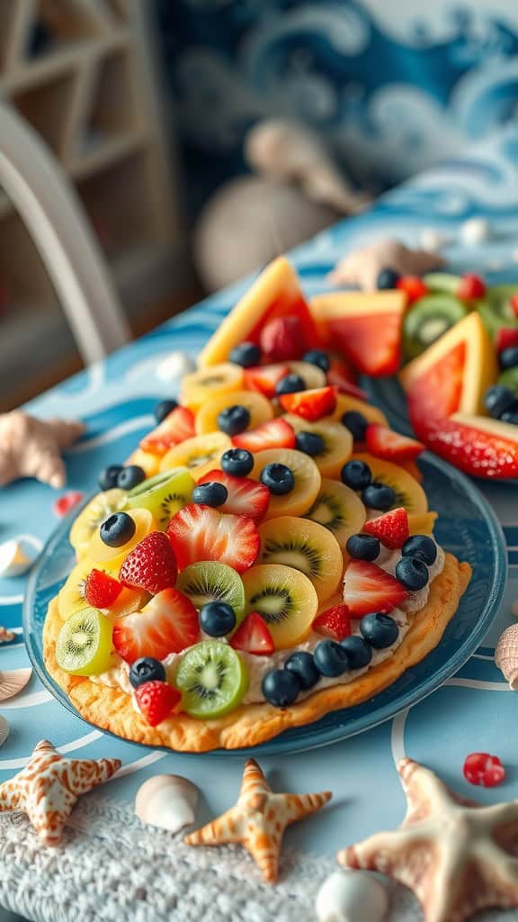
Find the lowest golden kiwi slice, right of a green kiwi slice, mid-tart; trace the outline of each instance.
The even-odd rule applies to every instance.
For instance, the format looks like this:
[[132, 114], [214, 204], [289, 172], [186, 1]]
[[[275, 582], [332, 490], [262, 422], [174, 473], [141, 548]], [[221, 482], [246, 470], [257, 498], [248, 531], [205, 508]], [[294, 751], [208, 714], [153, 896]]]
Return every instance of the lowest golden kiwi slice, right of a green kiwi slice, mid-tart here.
[[280, 563], [260, 563], [243, 573], [245, 610], [264, 619], [277, 650], [305, 640], [318, 609], [311, 580]]

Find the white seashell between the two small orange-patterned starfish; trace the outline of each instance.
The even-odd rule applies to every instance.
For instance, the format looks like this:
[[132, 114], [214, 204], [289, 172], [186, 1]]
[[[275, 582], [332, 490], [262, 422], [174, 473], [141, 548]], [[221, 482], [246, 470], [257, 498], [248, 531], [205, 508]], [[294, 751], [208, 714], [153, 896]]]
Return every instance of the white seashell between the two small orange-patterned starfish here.
[[135, 813], [151, 826], [178, 833], [196, 818], [198, 788], [179, 774], [155, 774], [138, 788]]

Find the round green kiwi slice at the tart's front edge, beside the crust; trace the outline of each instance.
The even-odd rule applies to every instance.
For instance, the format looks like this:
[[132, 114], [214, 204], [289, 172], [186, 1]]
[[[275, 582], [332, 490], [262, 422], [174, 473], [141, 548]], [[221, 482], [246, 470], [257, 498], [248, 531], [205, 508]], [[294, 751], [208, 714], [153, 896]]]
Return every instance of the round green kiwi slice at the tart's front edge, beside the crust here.
[[182, 656], [175, 682], [182, 710], [192, 717], [221, 717], [241, 704], [248, 670], [229, 644], [203, 641]]

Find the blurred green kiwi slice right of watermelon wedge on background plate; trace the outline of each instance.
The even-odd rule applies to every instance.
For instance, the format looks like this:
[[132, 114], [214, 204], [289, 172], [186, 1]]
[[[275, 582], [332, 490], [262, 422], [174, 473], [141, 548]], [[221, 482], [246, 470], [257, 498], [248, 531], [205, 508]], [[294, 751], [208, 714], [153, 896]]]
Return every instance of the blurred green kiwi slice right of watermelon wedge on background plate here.
[[421, 298], [406, 314], [403, 322], [403, 351], [405, 358], [415, 359], [428, 349], [451, 326], [465, 317], [467, 308], [445, 292]]

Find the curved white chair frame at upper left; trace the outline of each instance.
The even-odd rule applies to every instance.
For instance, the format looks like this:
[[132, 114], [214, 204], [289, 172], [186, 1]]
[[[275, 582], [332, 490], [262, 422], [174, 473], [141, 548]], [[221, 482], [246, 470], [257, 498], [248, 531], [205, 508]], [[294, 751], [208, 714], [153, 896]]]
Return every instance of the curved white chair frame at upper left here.
[[38, 248], [85, 364], [124, 346], [130, 327], [76, 192], [37, 133], [2, 102], [0, 187]]

